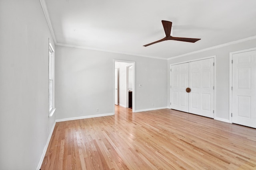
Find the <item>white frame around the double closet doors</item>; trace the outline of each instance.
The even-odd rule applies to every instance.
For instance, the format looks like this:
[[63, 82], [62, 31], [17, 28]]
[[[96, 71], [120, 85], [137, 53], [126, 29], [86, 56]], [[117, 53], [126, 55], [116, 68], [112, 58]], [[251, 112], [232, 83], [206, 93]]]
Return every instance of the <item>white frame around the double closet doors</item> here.
[[[214, 59], [214, 92], [213, 92], [213, 98], [214, 98], [214, 104], [213, 104], [213, 110], [214, 110], [214, 114], [213, 114], [213, 118], [216, 119], [216, 55], [212, 55], [212, 56], [209, 56], [209, 57], [202, 57], [202, 58], [198, 58], [198, 59], [193, 59], [193, 60], [188, 60], [188, 61], [182, 61], [182, 62], [178, 62], [178, 63], [173, 63], [173, 64], [170, 64], [170, 69], [171, 69], [171, 66], [172, 65], [177, 65], [177, 64], [183, 64], [183, 63], [189, 63], [189, 62], [193, 62], [193, 61], [200, 61], [200, 60], [205, 60], [205, 59], [211, 59], [213, 58]], [[170, 72], [170, 70], [169, 70]], [[170, 72], [170, 84], [171, 86], [171, 72]], [[171, 88], [170, 86], [168, 87], [170, 89], [170, 102], [171, 102]], [[168, 104], [169, 108], [171, 109], [171, 105], [170, 105], [170, 102]]]

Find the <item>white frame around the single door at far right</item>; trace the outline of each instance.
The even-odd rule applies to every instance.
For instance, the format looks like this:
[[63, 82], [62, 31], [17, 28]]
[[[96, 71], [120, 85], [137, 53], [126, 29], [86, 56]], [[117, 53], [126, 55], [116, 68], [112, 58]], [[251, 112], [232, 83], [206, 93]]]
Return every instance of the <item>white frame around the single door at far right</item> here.
[[229, 53], [229, 123], [232, 123], [232, 81], [233, 81], [233, 65], [232, 65], [232, 59], [233, 59], [233, 55], [237, 54], [237, 53], [244, 53], [244, 52], [248, 52], [248, 51], [254, 51], [256, 50], [256, 47], [254, 48], [250, 48], [250, 49], [244, 49], [244, 50], [239, 50], [239, 51], [233, 51]]

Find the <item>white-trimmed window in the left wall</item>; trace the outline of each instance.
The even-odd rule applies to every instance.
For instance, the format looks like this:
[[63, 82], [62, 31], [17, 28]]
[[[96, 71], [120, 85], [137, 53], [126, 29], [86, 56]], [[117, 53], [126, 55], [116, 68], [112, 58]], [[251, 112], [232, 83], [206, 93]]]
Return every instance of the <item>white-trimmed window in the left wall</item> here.
[[[48, 117], [52, 117], [55, 108], [55, 76], [54, 76], [54, 70], [55, 70], [55, 51], [52, 47], [52, 44], [49, 40], [48, 45], [48, 109], [49, 109], [49, 115]], [[51, 54], [52, 54], [52, 62], [51, 62]], [[52, 71], [52, 73], [51, 73]], [[52, 77], [50, 76], [52, 75]], [[50, 80], [52, 80], [52, 108], [50, 109]]]

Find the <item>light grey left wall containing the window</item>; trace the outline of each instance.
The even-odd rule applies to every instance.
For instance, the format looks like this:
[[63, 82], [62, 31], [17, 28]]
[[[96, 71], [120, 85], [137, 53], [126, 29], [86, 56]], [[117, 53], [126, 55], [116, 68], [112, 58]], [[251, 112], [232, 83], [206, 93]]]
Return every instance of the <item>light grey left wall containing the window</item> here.
[[0, 170], [35, 170], [54, 124], [48, 37], [39, 0], [0, 1]]

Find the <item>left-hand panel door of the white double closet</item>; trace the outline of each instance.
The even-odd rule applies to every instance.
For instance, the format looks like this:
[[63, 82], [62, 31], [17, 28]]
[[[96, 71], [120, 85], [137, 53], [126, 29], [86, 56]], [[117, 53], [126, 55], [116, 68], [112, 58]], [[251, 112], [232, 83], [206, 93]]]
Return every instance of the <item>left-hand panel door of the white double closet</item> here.
[[189, 63], [177, 64], [171, 66], [171, 108], [188, 112], [188, 78]]

